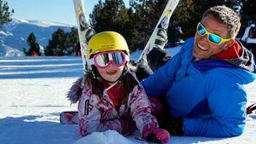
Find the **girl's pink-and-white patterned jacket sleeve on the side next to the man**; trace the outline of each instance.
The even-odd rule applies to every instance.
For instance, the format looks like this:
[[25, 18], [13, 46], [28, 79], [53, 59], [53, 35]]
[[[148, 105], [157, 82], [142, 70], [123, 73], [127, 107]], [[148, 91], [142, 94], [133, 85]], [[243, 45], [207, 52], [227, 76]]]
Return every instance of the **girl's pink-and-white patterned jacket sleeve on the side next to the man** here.
[[129, 96], [128, 104], [131, 107], [131, 116], [136, 122], [137, 129], [143, 133], [145, 126], [152, 124], [158, 127], [156, 118], [151, 114], [152, 107], [143, 86], [137, 85]]

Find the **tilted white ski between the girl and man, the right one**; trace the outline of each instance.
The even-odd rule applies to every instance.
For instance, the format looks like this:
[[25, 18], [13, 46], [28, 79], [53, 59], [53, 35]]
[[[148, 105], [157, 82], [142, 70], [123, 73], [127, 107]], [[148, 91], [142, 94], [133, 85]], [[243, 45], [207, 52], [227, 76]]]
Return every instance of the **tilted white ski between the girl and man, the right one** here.
[[157, 25], [154, 27], [154, 32], [151, 34], [148, 43], [143, 49], [143, 53], [140, 55], [137, 60], [138, 63], [147, 65], [147, 55], [153, 48], [164, 49], [165, 44], [167, 43], [167, 28], [169, 26], [169, 21], [171, 15], [177, 7], [179, 0], [169, 0], [166, 4], [166, 8], [160, 16], [160, 20]]

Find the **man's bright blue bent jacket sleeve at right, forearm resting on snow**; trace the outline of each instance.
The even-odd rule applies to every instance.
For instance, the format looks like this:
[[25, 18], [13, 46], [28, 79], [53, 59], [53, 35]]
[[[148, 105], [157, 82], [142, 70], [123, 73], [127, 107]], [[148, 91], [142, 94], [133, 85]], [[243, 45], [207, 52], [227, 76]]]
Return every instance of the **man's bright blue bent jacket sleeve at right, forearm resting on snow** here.
[[242, 134], [246, 120], [246, 91], [242, 85], [223, 79], [226, 78], [219, 79], [220, 83], [207, 89], [211, 117], [184, 118], [185, 135], [231, 137]]

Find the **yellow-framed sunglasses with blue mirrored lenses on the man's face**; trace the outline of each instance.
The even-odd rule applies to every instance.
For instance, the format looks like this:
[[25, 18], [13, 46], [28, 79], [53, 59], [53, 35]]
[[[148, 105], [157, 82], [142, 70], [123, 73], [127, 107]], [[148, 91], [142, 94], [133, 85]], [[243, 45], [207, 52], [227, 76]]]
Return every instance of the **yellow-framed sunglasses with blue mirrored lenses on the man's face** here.
[[208, 32], [206, 27], [203, 26], [201, 24], [201, 22], [199, 22], [197, 24], [197, 27], [196, 27], [196, 32], [201, 35], [201, 36], [204, 36], [204, 35], [207, 35], [208, 37], [208, 41], [210, 43], [214, 43], [214, 44], [220, 44], [220, 43], [224, 43], [224, 42], [227, 42], [229, 41], [231, 38], [223, 38], [223, 37], [220, 37], [216, 34], [213, 34], [212, 32]]

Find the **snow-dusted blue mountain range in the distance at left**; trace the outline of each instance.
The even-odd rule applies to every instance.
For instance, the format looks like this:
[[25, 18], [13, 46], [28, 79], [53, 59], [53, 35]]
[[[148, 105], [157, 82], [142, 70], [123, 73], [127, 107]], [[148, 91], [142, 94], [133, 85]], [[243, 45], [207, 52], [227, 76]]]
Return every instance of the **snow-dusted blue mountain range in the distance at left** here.
[[0, 29], [0, 56], [23, 56], [23, 49], [28, 48], [26, 39], [31, 32], [35, 34], [41, 49], [44, 49], [53, 32], [58, 28], [68, 32], [71, 27], [58, 22], [14, 18]]

